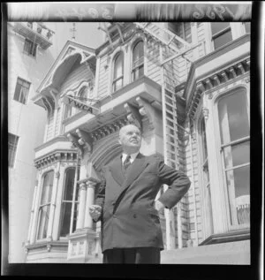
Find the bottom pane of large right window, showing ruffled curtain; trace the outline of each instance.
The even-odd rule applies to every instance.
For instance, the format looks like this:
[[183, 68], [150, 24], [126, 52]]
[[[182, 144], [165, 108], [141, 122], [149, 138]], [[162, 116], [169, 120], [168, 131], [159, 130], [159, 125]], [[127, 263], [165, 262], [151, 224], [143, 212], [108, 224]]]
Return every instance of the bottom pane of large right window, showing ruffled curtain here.
[[226, 172], [231, 209], [231, 223], [243, 224], [250, 221], [250, 174], [249, 166]]

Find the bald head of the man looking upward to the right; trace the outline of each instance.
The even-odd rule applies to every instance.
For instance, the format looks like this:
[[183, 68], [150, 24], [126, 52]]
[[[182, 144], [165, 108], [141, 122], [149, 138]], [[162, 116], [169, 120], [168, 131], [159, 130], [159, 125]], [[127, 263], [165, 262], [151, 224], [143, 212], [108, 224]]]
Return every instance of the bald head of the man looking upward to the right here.
[[124, 150], [136, 153], [140, 150], [141, 135], [140, 130], [135, 125], [125, 125], [119, 132], [119, 143]]

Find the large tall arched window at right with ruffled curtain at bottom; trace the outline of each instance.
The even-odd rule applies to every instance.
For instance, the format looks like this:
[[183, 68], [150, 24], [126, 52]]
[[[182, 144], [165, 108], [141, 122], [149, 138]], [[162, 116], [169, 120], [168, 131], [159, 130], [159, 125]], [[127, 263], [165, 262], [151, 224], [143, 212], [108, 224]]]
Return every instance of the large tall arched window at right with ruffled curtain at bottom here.
[[218, 117], [231, 226], [246, 226], [250, 221], [250, 137], [246, 90], [238, 88], [220, 99]]

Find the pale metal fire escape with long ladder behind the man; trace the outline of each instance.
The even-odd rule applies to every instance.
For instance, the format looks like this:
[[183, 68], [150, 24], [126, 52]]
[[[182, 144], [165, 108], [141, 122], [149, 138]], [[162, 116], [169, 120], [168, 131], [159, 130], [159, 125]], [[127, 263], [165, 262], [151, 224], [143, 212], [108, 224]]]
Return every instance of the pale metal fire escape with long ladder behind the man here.
[[[178, 125], [177, 119], [177, 99], [175, 87], [178, 86], [178, 57], [183, 57], [188, 63], [192, 63], [188, 53], [199, 47], [201, 43], [192, 45], [179, 37], [170, 30], [156, 25], [155, 23], [134, 23], [144, 33], [150, 35], [155, 41], [160, 42], [160, 63], [161, 63], [161, 80], [162, 80], [162, 101], [163, 101], [163, 154], [164, 162], [173, 168], [179, 169], [179, 130], [184, 128]], [[196, 57], [197, 58], [197, 57]], [[187, 76], [187, 72], [186, 72]], [[186, 131], [185, 131], [186, 132]], [[188, 132], [187, 132], [188, 133]], [[163, 192], [166, 191], [167, 185], [163, 186]], [[177, 207], [169, 210], [165, 209], [165, 229], [166, 229], [166, 246], [167, 249], [183, 247], [183, 221], [182, 210], [184, 206], [184, 197], [178, 202]], [[174, 213], [175, 212], [175, 213]], [[177, 215], [176, 215], [177, 212]], [[177, 218], [177, 220], [176, 220]], [[177, 226], [175, 227], [177, 223]], [[176, 232], [177, 231], [177, 232]], [[177, 233], [177, 234], [176, 234]], [[176, 240], [176, 236], [178, 239]]]

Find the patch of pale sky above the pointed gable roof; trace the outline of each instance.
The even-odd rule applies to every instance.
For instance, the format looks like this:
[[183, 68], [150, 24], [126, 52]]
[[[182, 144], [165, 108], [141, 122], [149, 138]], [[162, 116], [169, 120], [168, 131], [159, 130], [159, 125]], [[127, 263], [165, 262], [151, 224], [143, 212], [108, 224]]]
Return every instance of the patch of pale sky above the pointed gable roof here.
[[[55, 32], [52, 37], [53, 47], [50, 50], [57, 57], [64, 48], [67, 40], [72, 40], [72, 22], [43, 22]], [[76, 22], [75, 23], [75, 42], [91, 48], [98, 48], [104, 42], [104, 33], [98, 30], [98, 22]]]

